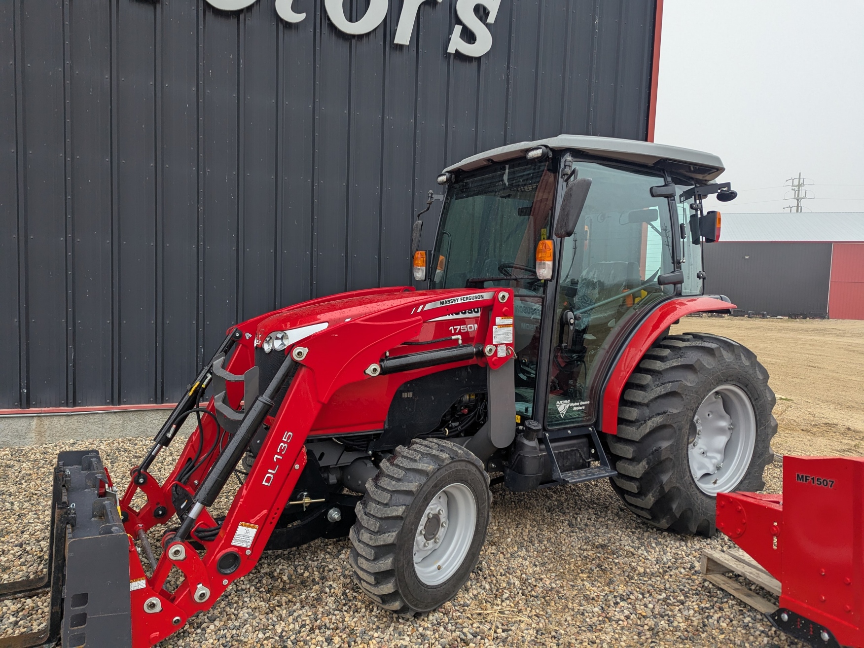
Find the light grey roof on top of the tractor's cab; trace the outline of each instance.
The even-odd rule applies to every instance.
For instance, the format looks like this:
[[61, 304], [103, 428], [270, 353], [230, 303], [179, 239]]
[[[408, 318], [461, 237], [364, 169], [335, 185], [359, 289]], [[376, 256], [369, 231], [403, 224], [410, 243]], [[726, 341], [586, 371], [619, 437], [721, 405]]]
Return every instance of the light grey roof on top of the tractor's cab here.
[[696, 184], [712, 181], [726, 169], [719, 157], [699, 150], [680, 149], [677, 146], [617, 137], [559, 135], [539, 139], [536, 142], [519, 142], [501, 146], [498, 149], [467, 157], [444, 170], [470, 171], [492, 162], [504, 162], [524, 156], [525, 151], [537, 146], [548, 146], [550, 149], [573, 149], [590, 156], [632, 162], [646, 167], [665, 168], [678, 175], [692, 178]]

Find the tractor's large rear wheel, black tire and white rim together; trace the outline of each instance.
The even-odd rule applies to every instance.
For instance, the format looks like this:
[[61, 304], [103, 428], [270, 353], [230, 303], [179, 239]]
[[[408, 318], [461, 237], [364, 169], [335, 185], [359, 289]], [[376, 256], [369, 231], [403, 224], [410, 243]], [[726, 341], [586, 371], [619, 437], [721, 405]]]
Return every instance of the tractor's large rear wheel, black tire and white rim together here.
[[696, 333], [658, 340], [621, 395], [618, 435], [606, 437], [619, 473], [613, 489], [649, 524], [712, 536], [716, 492], [765, 487], [775, 402], [768, 372], [745, 346]]

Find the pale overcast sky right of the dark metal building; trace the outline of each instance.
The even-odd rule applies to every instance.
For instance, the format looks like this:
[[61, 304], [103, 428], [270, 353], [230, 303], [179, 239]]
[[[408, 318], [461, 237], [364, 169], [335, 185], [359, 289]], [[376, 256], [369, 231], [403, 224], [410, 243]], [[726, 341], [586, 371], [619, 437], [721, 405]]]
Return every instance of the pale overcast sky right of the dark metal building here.
[[724, 212], [782, 211], [798, 172], [804, 211], [864, 212], [864, 2], [664, 0], [654, 141], [721, 157]]

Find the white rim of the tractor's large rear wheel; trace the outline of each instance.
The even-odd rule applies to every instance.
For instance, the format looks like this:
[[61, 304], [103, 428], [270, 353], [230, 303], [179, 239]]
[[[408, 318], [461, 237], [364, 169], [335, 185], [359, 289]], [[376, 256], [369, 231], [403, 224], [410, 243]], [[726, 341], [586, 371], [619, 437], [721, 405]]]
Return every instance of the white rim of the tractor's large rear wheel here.
[[707, 495], [733, 491], [744, 479], [756, 444], [756, 415], [744, 390], [721, 384], [705, 397], [689, 439], [690, 474]]

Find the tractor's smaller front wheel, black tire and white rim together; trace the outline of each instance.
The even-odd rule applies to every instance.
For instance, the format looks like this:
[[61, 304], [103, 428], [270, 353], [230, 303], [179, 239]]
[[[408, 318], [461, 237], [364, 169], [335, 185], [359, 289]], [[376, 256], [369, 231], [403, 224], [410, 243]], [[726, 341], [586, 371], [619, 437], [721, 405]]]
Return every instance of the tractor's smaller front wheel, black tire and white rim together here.
[[350, 537], [364, 594], [404, 616], [452, 599], [486, 542], [492, 493], [483, 463], [455, 443], [399, 446], [366, 482]]

